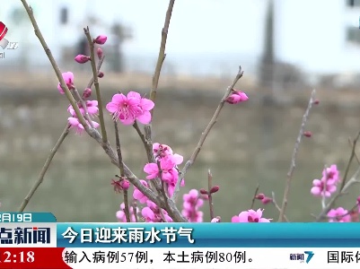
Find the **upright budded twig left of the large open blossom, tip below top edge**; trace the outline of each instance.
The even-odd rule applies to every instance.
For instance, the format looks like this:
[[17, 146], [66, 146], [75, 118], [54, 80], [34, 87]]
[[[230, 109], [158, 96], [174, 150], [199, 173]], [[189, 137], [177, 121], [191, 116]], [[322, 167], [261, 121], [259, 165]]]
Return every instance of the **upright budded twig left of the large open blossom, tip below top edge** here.
[[96, 63], [95, 63], [95, 52], [94, 52], [95, 47], [93, 44], [93, 40], [92, 40], [92, 36], [90, 34], [89, 27], [84, 28], [83, 31], [85, 33], [85, 36], [87, 38], [87, 41], [88, 41], [89, 47], [90, 47], [90, 60], [92, 63], [93, 85], [95, 86], [96, 99], [98, 100], [99, 121], [100, 121], [100, 126], [101, 126], [102, 142], [107, 143], [108, 142], [108, 134], [106, 134], [104, 111], [102, 110], [102, 100], [101, 100], [101, 93], [100, 93], [100, 87], [99, 87], [98, 71], [97, 71]]

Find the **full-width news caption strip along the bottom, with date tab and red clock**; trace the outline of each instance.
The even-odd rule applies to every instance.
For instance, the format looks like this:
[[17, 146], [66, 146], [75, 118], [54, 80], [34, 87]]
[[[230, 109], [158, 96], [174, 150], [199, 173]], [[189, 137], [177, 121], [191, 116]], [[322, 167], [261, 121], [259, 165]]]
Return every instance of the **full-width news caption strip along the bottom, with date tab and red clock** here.
[[0, 268], [360, 267], [359, 224], [84, 223], [0, 213]]

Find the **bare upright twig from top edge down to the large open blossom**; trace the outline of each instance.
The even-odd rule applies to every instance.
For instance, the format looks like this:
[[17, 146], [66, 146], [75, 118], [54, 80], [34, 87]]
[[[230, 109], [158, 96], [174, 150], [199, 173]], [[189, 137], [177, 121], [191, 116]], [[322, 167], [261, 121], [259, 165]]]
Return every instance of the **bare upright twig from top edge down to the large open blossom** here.
[[[166, 40], [168, 38], [171, 13], [172, 13], [172, 8], [173, 8], [174, 4], [175, 4], [175, 0], [169, 1], [168, 10], [167, 10], [166, 16], [165, 16], [165, 22], [163, 23], [162, 41], [160, 44], [159, 56], [157, 57], [155, 72], [154, 72], [154, 76], [153, 76], [153, 87], [152, 87], [152, 90], [150, 91], [150, 100], [153, 100], [153, 101], [155, 101], [155, 99], [156, 99], [156, 91], [157, 91], [157, 86], [159, 84], [160, 74], [162, 72], [162, 64], [166, 57], [166, 54], [165, 54]], [[154, 109], [151, 111], [151, 113], [153, 115]]]

